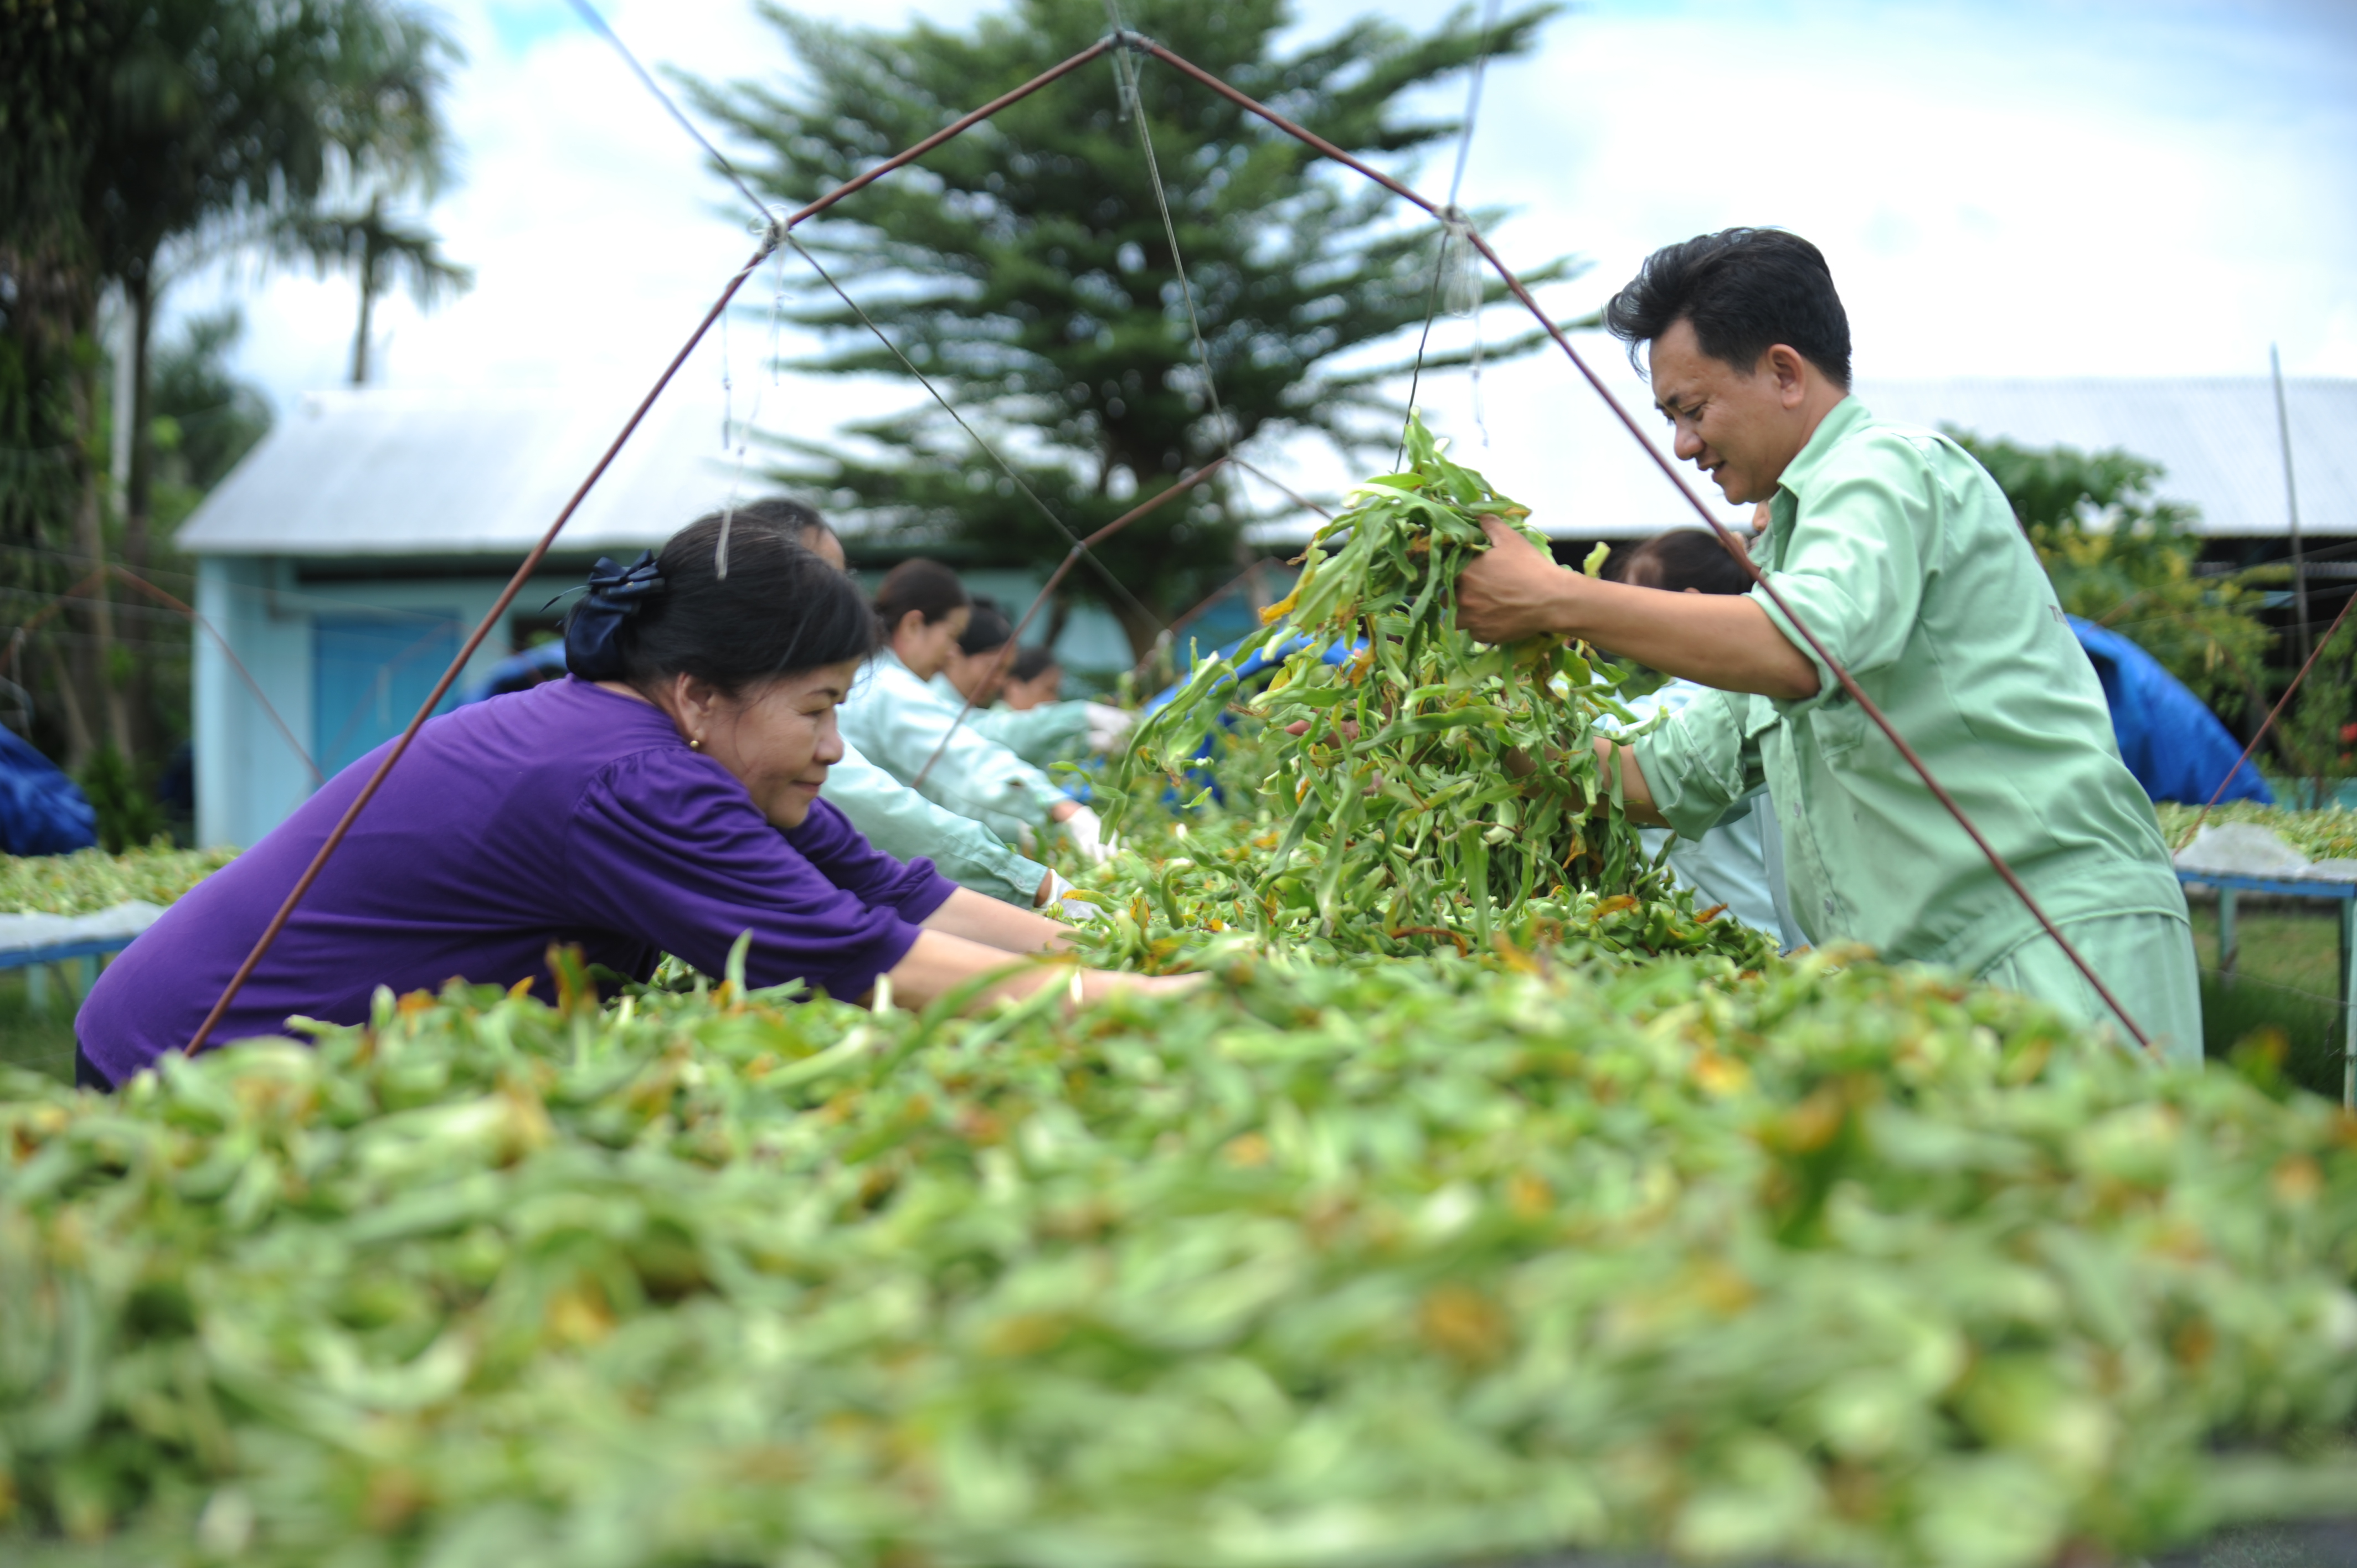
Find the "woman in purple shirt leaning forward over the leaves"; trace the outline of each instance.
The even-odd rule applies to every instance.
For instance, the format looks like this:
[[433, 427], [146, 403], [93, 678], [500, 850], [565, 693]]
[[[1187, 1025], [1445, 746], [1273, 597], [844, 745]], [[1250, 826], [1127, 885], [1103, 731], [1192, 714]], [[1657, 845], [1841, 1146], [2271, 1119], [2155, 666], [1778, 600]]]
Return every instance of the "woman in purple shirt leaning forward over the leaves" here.
[[[662, 953], [719, 974], [926, 1004], [1061, 946], [1063, 927], [870, 849], [818, 799], [834, 707], [874, 646], [851, 580], [766, 528], [672, 535], [660, 561], [599, 561], [566, 625], [570, 677], [429, 722], [354, 823], [212, 1042], [302, 1014], [361, 1023], [377, 986], [540, 981], [549, 943], [646, 979]], [[391, 745], [391, 743], [387, 743]], [[82, 1082], [186, 1049], [382, 747], [174, 903], [75, 1019]], [[988, 995], [1070, 969], [1018, 967]], [[1082, 995], [1162, 988], [1082, 971]]]

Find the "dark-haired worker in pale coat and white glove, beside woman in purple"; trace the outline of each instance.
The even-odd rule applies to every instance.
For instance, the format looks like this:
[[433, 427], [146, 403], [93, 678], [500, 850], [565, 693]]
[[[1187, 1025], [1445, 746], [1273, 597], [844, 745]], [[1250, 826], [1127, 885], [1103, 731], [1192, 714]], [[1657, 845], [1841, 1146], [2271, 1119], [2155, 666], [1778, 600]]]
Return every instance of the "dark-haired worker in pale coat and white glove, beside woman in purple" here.
[[1105, 856], [1096, 813], [964, 722], [964, 700], [926, 681], [940, 674], [971, 618], [966, 587], [940, 561], [900, 561], [877, 589], [884, 646], [844, 698], [844, 740], [938, 806], [1004, 839], [1035, 846], [1063, 828], [1091, 861]]

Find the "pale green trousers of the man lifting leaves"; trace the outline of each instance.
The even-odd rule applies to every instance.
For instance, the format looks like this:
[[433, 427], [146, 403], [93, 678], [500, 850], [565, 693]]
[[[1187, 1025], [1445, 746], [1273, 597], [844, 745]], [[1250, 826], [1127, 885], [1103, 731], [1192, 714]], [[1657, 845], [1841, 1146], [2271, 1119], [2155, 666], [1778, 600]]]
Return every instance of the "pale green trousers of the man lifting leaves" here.
[[[2194, 962], [2194, 929], [2185, 920], [2095, 915], [2065, 920], [2062, 936], [2143, 1026], [2161, 1061], [2178, 1068], [2201, 1066], [2201, 971]], [[2124, 1045], [2133, 1040], [2079, 967], [2044, 931], [2011, 948], [1975, 979], [2020, 990], [2086, 1023], [2102, 1023]]]

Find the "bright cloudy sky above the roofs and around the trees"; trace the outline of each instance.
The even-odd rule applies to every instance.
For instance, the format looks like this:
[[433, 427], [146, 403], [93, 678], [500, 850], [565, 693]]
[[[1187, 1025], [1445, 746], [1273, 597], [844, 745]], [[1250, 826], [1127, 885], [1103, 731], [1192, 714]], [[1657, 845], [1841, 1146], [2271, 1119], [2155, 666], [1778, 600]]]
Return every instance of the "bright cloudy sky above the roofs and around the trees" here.
[[[608, 0], [653, 61], [790, 68], [750, 0]], [[976, 0], [811, 0], [957, 24]], [[1367, 9], [1301, 0], [1303, 38]], [[1426, 26], [1440, 5], [1376, 0]], [[643, 384], [747, 252], [745, 219], [563, 0], [445, 5], [469, 64], [450, 104], [464, 182], [434, 210], [478, 274], [420, 316], [379, 309], [394, 387]], [[1447, 97], [1461, 92], [1450, 90]], [[1433, 160], [1426, 184], [1442, 186]], [[1492, 68], [1468, 203], [1518, 215], [1508, 262], [1593, 262], [1558, 290], [1593, 309], [1655, 245], [1728, 224], [1817, 241], [1860, 377], [2357, 375], [2357, 7], [2333, 0], [1586, 0]], [[280, 408], [342, 380], [349, 281], [200, 276], [181, 307], [243, 295], [240, 358]], [[1501, 318], [1494, 330], [1506, 330]], [[757, 323], [733, 340], [759, 377]], [[1629, 370], [1605, 349], [1622, 384]], [[688, 396], [714, 396], [705, 356]], [[1534, 462], [1574, 394], [1560, 361], [1485, 377], [1490, 462]], [[742, 394], [740, 394], [742, 396]], [[764, 422], [823, 427], [893, 396], [794, 384]], [[1579, 394], [1586, 396], [1586, 394]], [[1480, 441], [1466, 387], [1435, 420]], [[1325, 476], [1310, 453], [1270, 453]], [[1511, 486], [1508, 486], [1511, 488]]]

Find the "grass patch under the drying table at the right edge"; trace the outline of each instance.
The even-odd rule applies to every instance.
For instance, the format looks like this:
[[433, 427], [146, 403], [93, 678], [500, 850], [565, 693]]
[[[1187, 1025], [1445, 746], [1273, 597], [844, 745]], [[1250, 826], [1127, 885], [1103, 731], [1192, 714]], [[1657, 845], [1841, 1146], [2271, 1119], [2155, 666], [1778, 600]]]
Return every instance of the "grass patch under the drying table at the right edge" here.
[[2201, 960], [2201, 1045], [2225, 1056], [2239, 1042], [2279, 1030], [2284, 1075], [2341, 1099], [2341, 915], [2315, 910], [2239, 910], [2242, 955], [2234, 976], [2218, 971], [2218, 905], [2194, 905], [2194, 955]]

